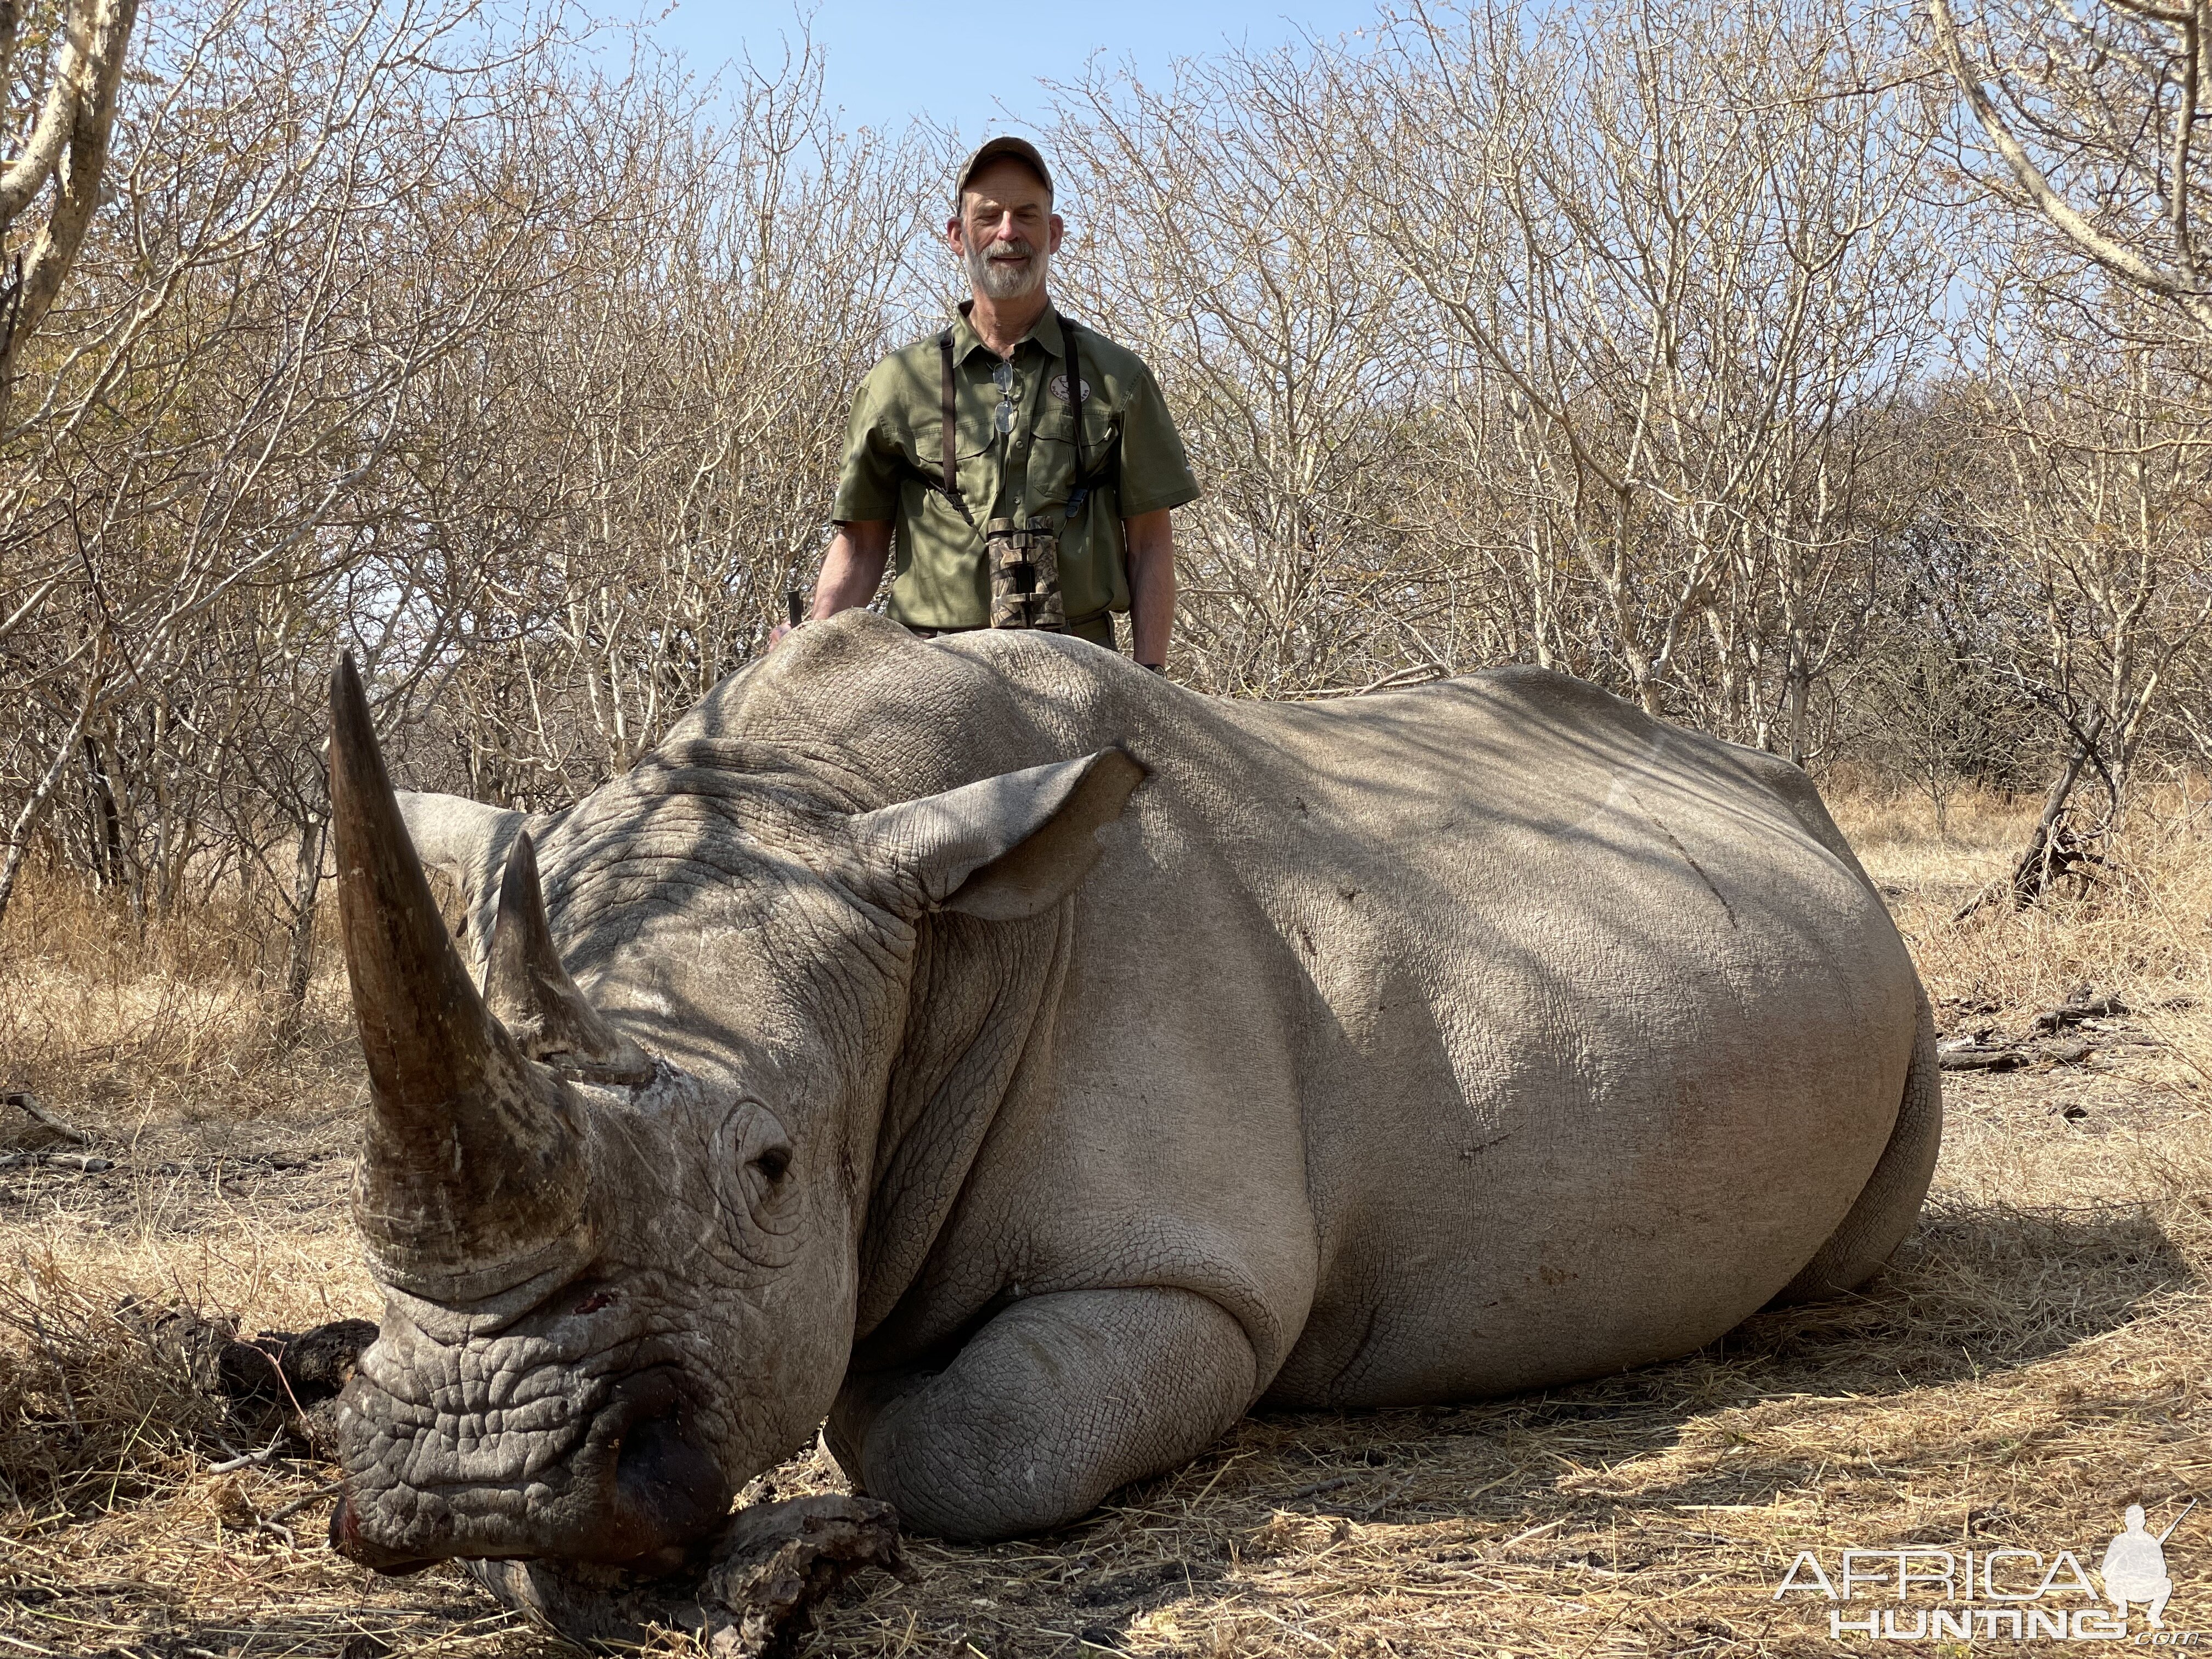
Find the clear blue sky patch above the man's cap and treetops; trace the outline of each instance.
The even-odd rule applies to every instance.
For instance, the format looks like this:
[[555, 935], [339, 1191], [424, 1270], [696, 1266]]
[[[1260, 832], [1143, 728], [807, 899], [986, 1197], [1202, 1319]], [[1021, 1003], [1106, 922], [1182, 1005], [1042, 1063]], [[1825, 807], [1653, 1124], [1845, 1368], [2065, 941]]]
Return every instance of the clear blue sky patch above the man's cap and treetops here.
[[[692, 69], [748, 51], [783, 58], [807, 13], [772, 0], [679, 0], [653, 27]], [[1177, 58], [1223, 44], [1252, 51], [1305, 35], [1334, 38], [1365, 27], [1374, 0], [1044, 0], [964, 7], [945, 0], [818, 0], [814, 40], [827, 51], [827, 93], [847, 126], [898, 133], [914, 117], [956, 126], [962, 137], [1035, 126], [1046, 97], [1040, 80], [1075, 80], [1104, 51], [1144, 80], [1166, 80]]]

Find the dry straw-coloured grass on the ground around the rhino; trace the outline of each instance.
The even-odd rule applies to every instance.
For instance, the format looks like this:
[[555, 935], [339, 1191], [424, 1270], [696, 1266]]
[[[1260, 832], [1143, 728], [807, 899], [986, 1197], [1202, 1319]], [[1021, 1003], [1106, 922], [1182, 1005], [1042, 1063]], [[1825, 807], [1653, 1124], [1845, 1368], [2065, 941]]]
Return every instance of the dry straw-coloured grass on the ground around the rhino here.
[[[1936, 1201], [1867, 1294], [1544, 1396], [1245, 1422], [1060, 1535], [914, 1540], [911, 1579], [858, 1579], [810, 1652], [1834, 1652], [1825, 1604], [1772, 1599], [1798, 1548], [2095, 1566], [2121, 1504], [2163, 1524], [2212, 1495], [2212, 860], [2181, 814], [2146, 818], [2126, 880], [1951, 922], [2024, 816], [1953, 803], [1944, 841], [1911, 801], [1838, 807], [1949, 1026], [2013, 1031], [2079, 984], [2137, 1009], [2086, 1066], [1953, 1077]], [[555, 1652], [458, 1573], [383, 1582], [330, 1555], [327, 1469], [210, 1473], [234, 1425], [111, 1316], [124, 1294], [248, 1327], [376, 1312], [343, 1219], [338, 989], [279, 1057], [257, 960], [221, 927], [139, 942], [55, 891], [0, 933], [0, 1088], [40, 1091], [117, 1159], [0, 1175], [20, 1270], [0, 1298], [0, 1652]], [[290, 1537], [261, 1524], [301, 1500]], [[2168, 1624], [2212, 1628], [2205, 1511], [2168, 1562]]]

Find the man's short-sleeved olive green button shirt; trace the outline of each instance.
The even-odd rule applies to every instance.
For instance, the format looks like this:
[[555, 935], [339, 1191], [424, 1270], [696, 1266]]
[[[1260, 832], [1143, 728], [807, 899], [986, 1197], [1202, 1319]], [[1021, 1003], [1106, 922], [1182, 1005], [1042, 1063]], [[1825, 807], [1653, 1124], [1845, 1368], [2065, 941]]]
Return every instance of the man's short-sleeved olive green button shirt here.
[[938, 336], [894, 352], [860, 383], [845, 431], [845, 471], [830, 518], [894, 522], [889, 613], [916, 628], [982, 628], [991, 580], [982, 531], [993, 518], [1048, 515], [1060, 524], [1060, 593], [1068, 622], [1128, 611], [1121, 520], [1197, 500], [1183, 440], [1144, 361], [1097, 330], [1075, 327], [1084, 365], [1084, 462], [1093, 487], [1075, 491], [1075, 420], [1060, 325], [1051, 307], [1013, 347], [1013, 431], [998, 429], [998, 354], [967, 319], [953, 319], [953, 400], [960, 489], [975, 518], [960, 518], [936, 487], [945, 471], [942, 354]]

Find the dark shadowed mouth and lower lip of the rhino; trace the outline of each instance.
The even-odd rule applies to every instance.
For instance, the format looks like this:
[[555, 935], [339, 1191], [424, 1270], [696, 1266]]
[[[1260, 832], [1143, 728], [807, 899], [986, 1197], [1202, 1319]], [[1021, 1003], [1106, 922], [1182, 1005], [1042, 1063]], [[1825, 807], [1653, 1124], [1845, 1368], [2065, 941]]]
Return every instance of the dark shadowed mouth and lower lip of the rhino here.
[[[562, 1462], [568, 1480], [544, 1513], [515, 1513], [513, 1489], [504, 1486], [418, 1489], [411, 1511], [422, 1520], [396, 1535], [378, 1535], [380, 1504], [365, 1509], [349, 1478], [330, 1515], [330, 1546], [385, 1575], [456, 1557], [591, 1562], [657, 1575], [686, 1564], [688, 1546], [723, 1520], [734, 1495], [699, 1442], [675, 1367], [617, 1383]], [[420, 1502], [431, 1495], [436, 1504]], [[484, 1502], [471, 1504], [471, 1495]]]

